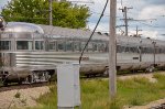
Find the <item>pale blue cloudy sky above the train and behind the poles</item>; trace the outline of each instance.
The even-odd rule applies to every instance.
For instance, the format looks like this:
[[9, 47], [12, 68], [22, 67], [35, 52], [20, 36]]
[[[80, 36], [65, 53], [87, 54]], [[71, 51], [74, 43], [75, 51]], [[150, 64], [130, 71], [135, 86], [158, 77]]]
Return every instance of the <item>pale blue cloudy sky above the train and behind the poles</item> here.
[[[106, 0], [68, 0], [78, 1], [76, 3], [89, 7], [91, 17], [88, 19], [87, 28], [94, 30]], [[81, 1], [81, 2], [80, 2]], [[7, 4], [8, 0], [0, 0], [0, 8]], [[74, 2], [75, 3], [75, 2]], [[123, 7], [132, 8], [128, 10], [128, 18], [135, 21], [129, 21], [129, 35], [134, 35], [136, 26], [139, 34], [144, 37], [165, 40], [165, 0], [117, 0], [117, 26], [124, 25], [123, 12], [119, 9]], [[105, 15], [100, 21], [97, 31], [109, 33], [110, 2], [106, 9]], [[117, 28], [118, 34], [124, 34], [124, 26]], [[164, 35], [163, 35], [164, 34]]]

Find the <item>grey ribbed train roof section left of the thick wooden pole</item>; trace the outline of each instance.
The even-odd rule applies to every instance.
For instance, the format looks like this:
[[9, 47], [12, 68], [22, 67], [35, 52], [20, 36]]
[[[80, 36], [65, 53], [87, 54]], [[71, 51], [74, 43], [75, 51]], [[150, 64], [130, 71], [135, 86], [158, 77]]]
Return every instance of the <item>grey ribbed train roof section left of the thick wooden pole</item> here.
[[[89, 30], [80, 30], [80, 29], [68, 29], [61, 26], [50, 26], [50, 25], [40, 25], [45, 34], [53, 35], [53, 37], [75, 37], [75, 39], [88, 39], [91, 34]], [[95, 40], [108, 40], [108, 35], [100, 34], [99, 32], [94, 33]]]

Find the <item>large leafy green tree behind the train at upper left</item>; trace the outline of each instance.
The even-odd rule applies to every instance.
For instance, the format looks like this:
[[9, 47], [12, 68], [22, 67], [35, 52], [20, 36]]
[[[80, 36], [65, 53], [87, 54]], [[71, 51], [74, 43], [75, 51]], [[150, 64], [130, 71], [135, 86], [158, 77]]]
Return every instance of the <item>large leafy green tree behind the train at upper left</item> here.
[[[48, 0], [11, 0], [1, 14], [7, 22], [48, 24]], [[85, 6], [72, 4], [66, 0], [53, 1], [53, 25], [85, 28], [89, 17], [89, 9]]]

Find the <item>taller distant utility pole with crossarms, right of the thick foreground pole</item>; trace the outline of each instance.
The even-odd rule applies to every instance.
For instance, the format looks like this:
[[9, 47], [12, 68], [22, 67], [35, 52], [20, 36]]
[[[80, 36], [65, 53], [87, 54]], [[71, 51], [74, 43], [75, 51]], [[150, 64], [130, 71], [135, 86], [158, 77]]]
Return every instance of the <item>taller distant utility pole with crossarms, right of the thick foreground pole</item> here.
[[128, 10], [129, 9], [133, 9], [133, 8], [127, 8], [127, 7], [124, 7], [123, 9], [119, 9], [119, 10], [122, 10], [122, 12], [124, 12], [124, 19], [122, 19], [122, 20], [124, 20], [124, 23], [125, 23], [125, 35], [128, 35], [128, 20], [132, 20], [132, 19], [128, 19]]

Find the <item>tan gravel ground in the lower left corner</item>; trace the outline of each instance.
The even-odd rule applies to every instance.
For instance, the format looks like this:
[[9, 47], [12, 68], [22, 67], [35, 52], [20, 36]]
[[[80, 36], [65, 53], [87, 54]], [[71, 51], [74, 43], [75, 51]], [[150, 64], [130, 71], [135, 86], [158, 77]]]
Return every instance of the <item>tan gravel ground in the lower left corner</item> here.
[[0, 109], [34, 107], [37, 105], [35, 99], [48, 91], [47, 86], [2, 91], [0, 92]]

